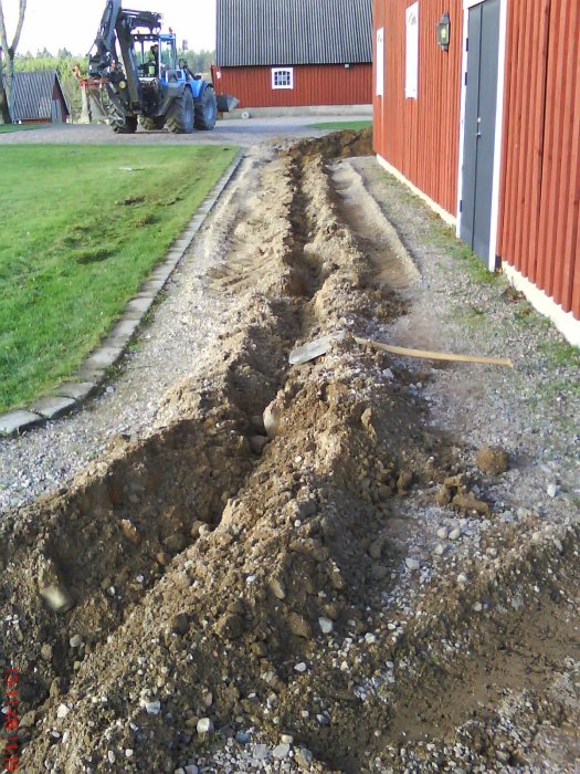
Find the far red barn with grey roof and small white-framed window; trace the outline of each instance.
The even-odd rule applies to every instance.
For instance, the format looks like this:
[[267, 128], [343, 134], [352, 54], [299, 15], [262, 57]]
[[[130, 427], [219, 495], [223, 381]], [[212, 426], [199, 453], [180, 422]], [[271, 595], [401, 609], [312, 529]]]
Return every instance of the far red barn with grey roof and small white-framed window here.
[[240, 107], [372, 101], [372, 0], [218, 0], [218, 92]]

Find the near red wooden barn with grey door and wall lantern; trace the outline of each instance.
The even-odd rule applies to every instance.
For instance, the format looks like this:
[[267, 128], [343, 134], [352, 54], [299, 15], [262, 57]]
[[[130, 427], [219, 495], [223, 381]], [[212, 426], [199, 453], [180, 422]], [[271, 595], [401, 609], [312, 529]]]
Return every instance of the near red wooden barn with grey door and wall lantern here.
[[580, 3], [373, 11], [379, 161], [580, 344]]

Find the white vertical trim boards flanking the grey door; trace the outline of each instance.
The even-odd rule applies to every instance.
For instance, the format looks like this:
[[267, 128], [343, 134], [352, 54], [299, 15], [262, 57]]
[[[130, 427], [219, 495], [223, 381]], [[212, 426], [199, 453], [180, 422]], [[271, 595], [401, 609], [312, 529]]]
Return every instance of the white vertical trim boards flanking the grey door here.
[[[460, 165], [457, 171], [457, 219], [456, 234], [461, 233], [461, 201], [463, 199], [463, 146], [465, 142], [465, 74], [467, 72], [467, 32], [470, 21], [470, 8], [479, 6], [485, 0], [463, 0], [463, 38], [462, 38], [462, 67], [461, 67], [461, 119], [460, 119]], [[497, 51], [497, 106], [495, 118], [495, 149], [494, 149], [494, 182], [492, 192], [492, 222], [489, 229], [489, 248], [486, 260], [489, 271], [495, 270], [496, 247], [499, 226], [499, 184], [502, 178], [502, 139], [504, 133], [504, 91], [506, 70], [506, 39], [507, 39], [507, 0], [499, 0], [499, 46]]]

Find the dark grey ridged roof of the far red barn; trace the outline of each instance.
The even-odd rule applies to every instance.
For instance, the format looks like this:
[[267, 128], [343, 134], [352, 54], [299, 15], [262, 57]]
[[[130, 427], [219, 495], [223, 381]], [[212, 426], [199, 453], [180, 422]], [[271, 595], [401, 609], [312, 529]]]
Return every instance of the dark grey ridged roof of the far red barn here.
[[220, 66], [372, 61], [372, 0], [218, 0]]

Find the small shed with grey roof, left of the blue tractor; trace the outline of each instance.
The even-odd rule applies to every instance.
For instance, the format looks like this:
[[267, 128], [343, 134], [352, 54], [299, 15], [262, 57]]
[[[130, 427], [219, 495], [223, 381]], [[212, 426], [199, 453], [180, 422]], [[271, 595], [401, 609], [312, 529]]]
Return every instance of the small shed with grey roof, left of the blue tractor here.
[[14, 122], [64, 124], [71, 114], [55, 70], [14, 73]]

